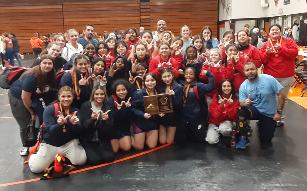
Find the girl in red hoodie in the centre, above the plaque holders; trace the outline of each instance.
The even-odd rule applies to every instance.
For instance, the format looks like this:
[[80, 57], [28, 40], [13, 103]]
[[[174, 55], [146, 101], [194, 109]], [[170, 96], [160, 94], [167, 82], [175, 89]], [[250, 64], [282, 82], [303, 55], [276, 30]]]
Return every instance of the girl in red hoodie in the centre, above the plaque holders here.
[[181, 66], [182, 60], [179, 62], [170, 54], [170, 45], [168, 42], [159, 44], [159, 55], [151, 59], [149, 63], [149, 72], [154, 73], [157, 78], [164, 68], [170, 68], [174, 71], [174, 78], [179, 77], [178, 68]]

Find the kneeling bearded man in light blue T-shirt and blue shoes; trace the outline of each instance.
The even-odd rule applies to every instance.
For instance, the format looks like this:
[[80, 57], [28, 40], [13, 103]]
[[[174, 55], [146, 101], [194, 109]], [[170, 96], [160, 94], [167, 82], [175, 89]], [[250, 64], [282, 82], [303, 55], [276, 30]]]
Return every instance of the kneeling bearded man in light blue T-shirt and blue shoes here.
[[[246, 80], [239, 89], [240, 141], [236, 148], [244, 149], [250, 142], [247, 138], [248, 121], [259, 120], [258, 130], [261, 143], [270, 143], [274, 137], [276, 121], [282, 117], [286, 94], [283, 86], [272, 76], [258, 74], [253, 62], [244, 65]], [[278, 95], [278, 100], [277, 100]]]

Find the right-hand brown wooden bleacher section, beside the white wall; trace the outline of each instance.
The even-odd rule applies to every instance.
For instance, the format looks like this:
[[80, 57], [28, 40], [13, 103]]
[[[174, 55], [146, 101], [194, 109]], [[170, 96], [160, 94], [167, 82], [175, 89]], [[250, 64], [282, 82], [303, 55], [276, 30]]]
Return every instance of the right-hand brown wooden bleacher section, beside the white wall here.
[[150, 30], [157, 30], [157, 21], [164, 20], [167, 29], [180, 35], [183, 25], [188, 25], [193, 35], [200, 34], [205, 25], [217, 34], [218, 0], [150, 0]]

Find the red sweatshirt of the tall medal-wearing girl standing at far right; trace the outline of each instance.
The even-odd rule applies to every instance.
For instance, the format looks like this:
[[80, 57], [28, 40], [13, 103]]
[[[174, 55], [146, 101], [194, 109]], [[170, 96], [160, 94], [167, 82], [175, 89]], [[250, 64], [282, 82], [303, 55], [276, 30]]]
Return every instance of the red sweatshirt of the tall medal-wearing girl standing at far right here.
[[[279, 43], [279, 40], [272, 41], [273, 45]], [[260, 49], [263, 63], [263, 74], [269, 74], [274, 78], [288, 78], [295, 74], [294, 58], [298, 55], [297, 44], [291, 38], [282, 37], [281, 48], [278, 53], [272, 49], [270, 54], [266, 53], [266, 47], [272, 47], [270, 40], [266, 41]], [[275, 55], [278, 55], [276, 57]]]

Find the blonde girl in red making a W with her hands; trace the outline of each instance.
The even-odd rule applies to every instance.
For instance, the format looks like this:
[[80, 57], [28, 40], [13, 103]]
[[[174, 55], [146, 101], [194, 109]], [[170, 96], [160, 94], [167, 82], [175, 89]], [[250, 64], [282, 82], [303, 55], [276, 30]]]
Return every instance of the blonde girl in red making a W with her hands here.
[[222, 54], [219, 48], [212, 48], [209, 52], [209, 60], [205, 57], [201, 72], [199, 74], [199, 81], [203, 83], [208, 83], [208, 77], [204, 75], [205, 71], [209, 70], [213, 74], [214, 81], [216, 84], [216, 89], [207, 94], [208, 104], [211, 102], [211, 98], [216, 94], [217, 87], [219, 87], [220, 82], [225, 78], [226, 68], [222, 64]]

